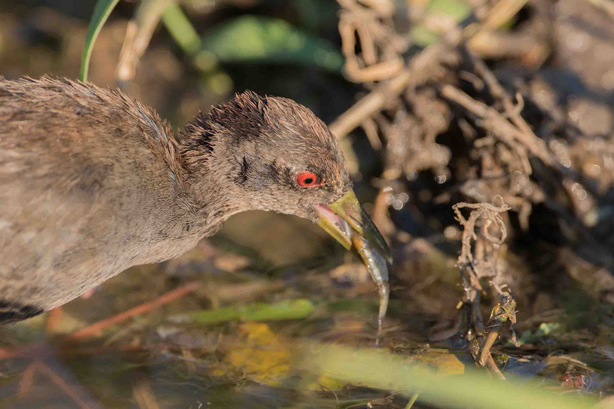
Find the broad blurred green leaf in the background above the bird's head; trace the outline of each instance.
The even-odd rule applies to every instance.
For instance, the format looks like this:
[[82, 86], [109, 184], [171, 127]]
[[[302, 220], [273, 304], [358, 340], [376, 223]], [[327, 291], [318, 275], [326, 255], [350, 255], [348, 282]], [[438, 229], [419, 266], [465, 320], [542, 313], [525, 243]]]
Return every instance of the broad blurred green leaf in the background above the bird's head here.
[[202, 40], [204, 52], [220, 61], [317, 65], [333, 72], [343, 66], [335, 45], [279, 18], [243, 15], [220, 23]]

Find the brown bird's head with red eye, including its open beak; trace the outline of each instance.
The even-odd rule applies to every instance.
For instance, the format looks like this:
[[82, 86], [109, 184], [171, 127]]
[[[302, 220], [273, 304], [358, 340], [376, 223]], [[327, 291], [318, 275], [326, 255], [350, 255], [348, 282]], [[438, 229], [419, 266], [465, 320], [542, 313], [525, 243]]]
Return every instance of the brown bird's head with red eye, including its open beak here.
[[[389, 249], [360, 206], [335, 138], [311, 110], [281, 97], [236, 94], [198, 115], [181, 137], [195, 177], [227, 207], [272, 210], [319, 224], [346, 248], [365, 237], [387, 259]], [[215, 185], [215, 186], [213, 186]]]

